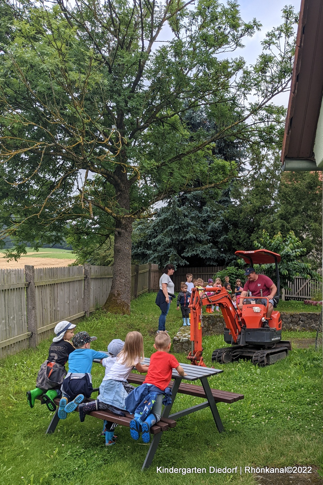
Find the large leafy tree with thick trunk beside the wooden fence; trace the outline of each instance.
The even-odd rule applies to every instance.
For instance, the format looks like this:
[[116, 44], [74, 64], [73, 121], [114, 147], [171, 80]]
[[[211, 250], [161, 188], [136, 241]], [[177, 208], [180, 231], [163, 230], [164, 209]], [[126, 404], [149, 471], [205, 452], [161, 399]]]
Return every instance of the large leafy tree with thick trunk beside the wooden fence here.
[[[259, 24], [243, 22], [235, 1], [0, 0], [0, 8], [0, 226], [16, 241], [8, 256], [28, 241], [57, 242], [66, 227], [80, 238], [114, 234], [105, 307], [129, 312], [133, 221], [174, 194], [227, 183], [235, 166], [212, 155], [217, 140], [272, 142], [294, 13], [283, 10], [247, 66], [226, 53]], [[192, 135], [185, 113], [202, 106], [216, 129]]]

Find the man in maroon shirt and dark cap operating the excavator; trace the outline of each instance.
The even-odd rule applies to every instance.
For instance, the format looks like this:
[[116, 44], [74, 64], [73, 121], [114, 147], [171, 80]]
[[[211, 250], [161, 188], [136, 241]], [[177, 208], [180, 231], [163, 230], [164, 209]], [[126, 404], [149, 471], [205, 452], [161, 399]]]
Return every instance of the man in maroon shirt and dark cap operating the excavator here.
[[[248, 281], [245, 283], [243, 291], [241, 292], [238, 307], [242, 310], [243, 298], [247, 296], [248, 291], [250, 291], [250, 295], [254, 297], [268, 296], [269, 305], [266, 319], [270, 319], [275, 305], [274, 296], [277, 291], [274, 281], [266, 275], [257, 275], [254, 268], [247, 268], [244, 274], [248, 277]], [[259, 301], [260, 300], [258, 300], [258, 302]], [[262, 299], [261, 303], [262, 305], [267, 305], [267, 300]]]

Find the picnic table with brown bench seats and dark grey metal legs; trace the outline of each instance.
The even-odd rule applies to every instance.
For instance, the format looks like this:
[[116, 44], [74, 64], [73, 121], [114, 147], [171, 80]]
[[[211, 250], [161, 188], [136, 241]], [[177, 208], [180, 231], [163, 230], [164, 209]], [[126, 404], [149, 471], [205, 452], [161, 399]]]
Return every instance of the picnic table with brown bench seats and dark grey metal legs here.
[[[150, 362], [149, 358], [144, 359], [145, 364], [149, 365], [149, 362]], [[170, 428], [174, 428], [176, 426], [176, 419], [182, 416], [186, 416], [187, 414], [194, 413], [200, 409], [210, 407], [216, 427], [218, 431], [221, 433], [221, 431], [223, 431], [224, 429], [224, 426], [222, 424], [216, 404], [217, 403], [232, 404], [244, 398], [243, 394], [236, 394], [234, 392], [228, 392], [228, 391], [222, 391], [219, 389], [210, 388], [208, 377], [219, 374], [223, 372], [223, 370], [211, 369], [209, 367], [193, 366], [191, 364], [180, 364], [180, 365], [183, 367], [184, 372], [187, 375], [182, 377], [178, 374], [178, 372], [175, 369], [173, 369], [173, 373], [172, 373], [173, 380], [170, 383], [170, 387], [172, 389], [172, 403], [164, 407], [163, 413], [161, 415], [161, 419], [158, 421], [158, 423], [156, 423], [154, 426], [151, 427], [151, 434], [153, 435], [153, 439], [151, 441], [148, 453], [146, 454], [142, 469], [148, 468], [151, 465], [154, 455], [156, 453], [157, 447], [161, 440], [162, 433], [164, 431], [167, 431]], [[190, 380], [190, 381], [200, 380], [202, 386], [195, 386], [194, 384], [182, 383], [181, 382], [182, 379]], [[134, 372], [130, 372], [128, 377], [128, 382], [131, 384], [142, 384], [144, 380], [145, 380], [145, 375], [136, 374]], [[94, 391], [98, 391], [98, 388], [94, 389]], [[204, 401], [201, 404], [196, 404], [187, 409], [183, 409], [176, 413], [170, 414], [178, 392], [180, 394], [187, 394], [190, 396], [204, 398], [206, 399], [206, 401]], [[55, 404], [59, 404], [59, 399], [54, 400], [54, 402]], [[125, 416], [117, 416], [116, 414], [113, 414], [110, 411], [92, 411], [91, 413], [89, 413], [88, 416], [93, 416], [101, 420], [108, 420], [128, 427], [130, 426], [130, 420], [133, 418], [133, 415], [131, 415], [127, 411], [125, 411]], [[47, 434], [53, 433], [55, 431], [55, 428], [58, 422], [59, 422], [59, 417], [58, 417], [58, 410], [57, 410], [52, 420], [50, 421], [50, 424], [48, 426], [46, 433]]]

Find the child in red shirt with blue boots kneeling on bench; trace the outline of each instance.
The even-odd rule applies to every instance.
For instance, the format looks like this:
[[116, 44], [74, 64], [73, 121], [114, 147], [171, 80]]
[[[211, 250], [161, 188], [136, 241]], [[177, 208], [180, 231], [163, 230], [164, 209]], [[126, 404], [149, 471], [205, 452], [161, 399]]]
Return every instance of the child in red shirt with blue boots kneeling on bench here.
[[[148, 393], [156, 393], [157, 397], [153, 405], [151, 401], [146, 403], [147, 400], [137, 403], [137, 409], [143, 404], [145, 404], [144, 407], [149, 405], [152, 406], [150, 414], [145, 418], [144, 421], [140, 419], [143, 417], [142, 413], [136, 412], [134, 419], [130, 421], [130, 436], [133, 439], [138, 439], [139, 427], [141, 426], [143, 432], [142, 440], [144, 443], [148, 443], [150, 441], [149, 430], [151, 426], [161, 419], [161, 405], [164, 397], [164, 391], [171, 381], [173, 369], [176, 369], [178, 374], [181, 376], [187, 375], [185, 374], [182, 366], [179, 365], [178, 360], [172, 354], [169, 354], [171, 348], [171, 339], [168, 333], [161, 332], [156, 335], [154, 348], [157, 350], [157, 352], [150, 357], [148, 372], [142, 386], [146, 387]], [[135, 391], [136, 389], [132, 392]]]

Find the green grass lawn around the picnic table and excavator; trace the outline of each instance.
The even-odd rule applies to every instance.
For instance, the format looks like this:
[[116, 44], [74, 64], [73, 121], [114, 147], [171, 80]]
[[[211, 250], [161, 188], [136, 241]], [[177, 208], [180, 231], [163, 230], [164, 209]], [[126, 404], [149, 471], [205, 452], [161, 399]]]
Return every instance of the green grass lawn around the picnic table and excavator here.
[[[129, 330], [139, 330], [145, 340], [145, 355], [153, 352], [159, 308], [155, 295], [132, 302], [131, 316], [97, 311], [78, 324], [97, 336], [92, 347], [105, 349], [113, 338], [124, 339]], [[173, 302], [166, 328], [173, 337], [181, 324]], [[299, 338], [314, 333], [289, 332]], [[225, 431], [218, 433], [210, 409], [178, 420], [166, 431], [153, 465], [141, 472], [147, 445], [133, 441], [129, 428], [118, 427], [119, 440], [112, 448], [99, 436], [102, 421], [87, 417], [80, 423], [73, 413], [61, 421], [53, 435], [45, 436], [51, 418], [46, 406], [36, 402], [30, 409], [26, 390], [34, 388], [41, 363], [47, 358], [49, 340], [36, 350], [20, 352], [0, 361], [0, 484], [3, 485], [150, 485], [162, 484], [256, 484], [251, 474], [209, 474], [209, 467], [319, 465], [322, 445], [322, 356], [314, 347], [294, 350], [287, 359], [267, 368], [239, 361], [221, 366], [222, 374], [210, 378], [213, 388], [243, 393], [234, 404], [219, 404]], [[224, 345], [222, 336], [206, 337], [204, 360], [211, 365], [212, 351]], [[184, 354], [175, 354], [185, 362]], [[220, 366], [220, 364], [218, 364]], [[93, 365], [93, 384], [98, 386], [103, 368]], [[178, 395], [173, 410], [201, 400]], [[205, 467], [205, 474], [157, 474], [156, 467]], [[267, 483], [267, 481], [266, 481]], [[285, 483], [285, 482], [284, 482]], [[268, 482], [270, 484], [270, 481]], [[296, 482], [295, 482], [296, 485]]]

